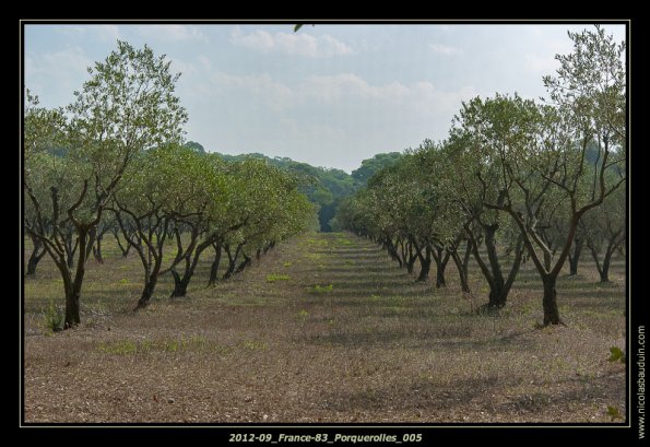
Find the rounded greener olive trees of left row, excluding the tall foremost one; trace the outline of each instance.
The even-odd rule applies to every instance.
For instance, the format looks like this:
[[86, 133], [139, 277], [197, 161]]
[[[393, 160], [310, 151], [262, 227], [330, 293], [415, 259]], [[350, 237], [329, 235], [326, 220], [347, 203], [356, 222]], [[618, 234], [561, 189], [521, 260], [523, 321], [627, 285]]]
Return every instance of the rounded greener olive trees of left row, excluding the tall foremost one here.
[[156, 148], [135, 161], [110, 211], [142, 263], [137, 308], [147, 305], [165, 273], [174, 277], [172, 296], [185, 296], [206, 249], [214, 254], [214, 284], [224, 252], [227, 279], [315, 216], [296, 179], [264, 161], [224, 162], [182, 146]]

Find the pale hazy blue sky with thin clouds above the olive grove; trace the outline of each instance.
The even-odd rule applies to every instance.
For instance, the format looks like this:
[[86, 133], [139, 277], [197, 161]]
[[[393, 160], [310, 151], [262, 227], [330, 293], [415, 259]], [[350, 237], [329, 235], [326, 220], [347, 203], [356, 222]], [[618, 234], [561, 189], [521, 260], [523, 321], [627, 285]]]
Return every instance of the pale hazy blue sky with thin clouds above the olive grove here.
[[[182, 75], [187, 139], [351, 172], [379, 152], [447, 137], [461, 102], [545, 95], [567, 30], [587, 25], [26, 25], [25, 84], [63, 106], [116, 39]], [[617, 40], [623, 25], [606, 26]]]

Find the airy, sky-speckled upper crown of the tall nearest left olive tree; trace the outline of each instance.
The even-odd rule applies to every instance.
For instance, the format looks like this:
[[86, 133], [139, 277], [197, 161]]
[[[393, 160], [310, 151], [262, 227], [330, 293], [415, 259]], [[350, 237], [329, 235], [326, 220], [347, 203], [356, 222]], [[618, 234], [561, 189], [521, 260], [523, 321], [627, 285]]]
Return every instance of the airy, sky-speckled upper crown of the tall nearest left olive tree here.
[[102, 177], [113, 167], [120, 168], [110, 163], [118, 151], [132, 155], [132, 151], [180, 141], [187, 113], [174, 93], [180, 73], [172, 73], [169, 66], [165, 56], [156, 57], [146, 45], [137, 49], [118, 40], [104, 62], [88, 69], [91, 80], [83, 90], [74, 92], [69, 111], [81, 143], [75, 152], [90, 150], [91, 156], [101, 158]]

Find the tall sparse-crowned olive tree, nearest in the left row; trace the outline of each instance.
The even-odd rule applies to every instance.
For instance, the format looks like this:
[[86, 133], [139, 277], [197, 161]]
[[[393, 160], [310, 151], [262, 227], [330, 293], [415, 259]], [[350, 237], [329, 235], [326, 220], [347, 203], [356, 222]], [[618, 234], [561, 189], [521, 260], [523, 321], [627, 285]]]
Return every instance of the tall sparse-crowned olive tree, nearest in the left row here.
[[[63, 279], [64, 328], [80, 324], [80, 301], [85, 263], [97, 225], [125, 172], [141, 151], [179, 141], [187, 115], [174, 94], [179, 74], [169, 70], [164, 56], [151, 48], [135, 49], [118, 40], [117, 49], [103, 62], [88, 68], [91, 79], [74, 92], [66, 114], [50, 114], [64, 134], [66, 176], [74, 188], [63, 191], [51, 185], [48, 193], [37, 193], [25, 175], [25, 190], [38, 223], [34, 234], [55, 260]], [[47, 114], [28, 104], [25, 109], [25, 169], [31, 169], [34, 148], [42, 148], [42, 133], [33, 122]], [[60, 115], [60, 117], [58, 117]], [[62, 169], [57, 170], [63, 175]], [[70, 196], [63, 200], [63, 195]], [[46, 205], [47, 203], [47, 205]], [[45, 215], [47, 214], [47, 215]], [[72, 225], [78, 244], [73, 267], [62, 262], [64, 247], [59, 228]]]

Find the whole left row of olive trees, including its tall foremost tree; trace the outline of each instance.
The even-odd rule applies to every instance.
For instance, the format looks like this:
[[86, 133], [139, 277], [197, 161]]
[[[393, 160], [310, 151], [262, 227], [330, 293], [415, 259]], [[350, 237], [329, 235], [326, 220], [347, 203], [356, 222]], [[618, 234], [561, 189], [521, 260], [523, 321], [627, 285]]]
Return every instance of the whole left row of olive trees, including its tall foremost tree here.
[[140, 308], [164, 273], [174, 277], [173, 296], [185, 295], [206, 248], [215, 252], [214, 282], [222, 251], [229, 275], [253, 254], [306, 228], [314, 209], [293, 177], [260, 161], [225, 163], [180, 144], [187, 114], [174, 94], [179, 74], [164, 56], [118, 42], [88, 72], [66, 108], [39, 107], [28, 91], [25, 98], [23, 219], [35, 248], [29, 263], [35, 269], [47, 252], [57, 266], [64, 328], [81, 321], [86, 261], [93, 250], [101, 257], [107, 231], [141, 260]]

